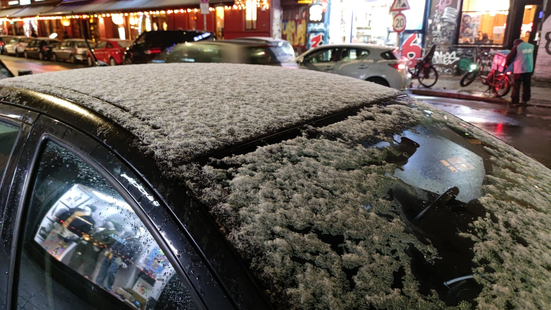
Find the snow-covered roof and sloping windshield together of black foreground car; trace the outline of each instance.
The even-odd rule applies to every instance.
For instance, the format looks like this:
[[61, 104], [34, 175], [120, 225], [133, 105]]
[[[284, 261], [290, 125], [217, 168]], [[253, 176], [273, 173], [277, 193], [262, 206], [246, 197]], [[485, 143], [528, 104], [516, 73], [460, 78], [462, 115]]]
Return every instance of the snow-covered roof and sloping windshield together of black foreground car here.
[[139, 137], [277, 309], [551, 305], [551, 171], [434, 106], [383, 103], [401, 93], [278, 67], [84, 72], [0, 85], [71, 99]]

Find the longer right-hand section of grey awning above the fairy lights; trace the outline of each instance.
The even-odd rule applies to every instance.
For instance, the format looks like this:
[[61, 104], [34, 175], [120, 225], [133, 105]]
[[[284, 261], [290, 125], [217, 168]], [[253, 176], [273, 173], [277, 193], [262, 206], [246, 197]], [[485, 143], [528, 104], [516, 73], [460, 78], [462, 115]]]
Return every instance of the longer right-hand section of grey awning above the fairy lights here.
[[84, 13], [116, 13], [132, 10], [182, 8], [198, 6], [200, 0], [93, 0], [87, 2], [61, 3], [59, 6], [41, 12], [42, 15], [84, 14]]

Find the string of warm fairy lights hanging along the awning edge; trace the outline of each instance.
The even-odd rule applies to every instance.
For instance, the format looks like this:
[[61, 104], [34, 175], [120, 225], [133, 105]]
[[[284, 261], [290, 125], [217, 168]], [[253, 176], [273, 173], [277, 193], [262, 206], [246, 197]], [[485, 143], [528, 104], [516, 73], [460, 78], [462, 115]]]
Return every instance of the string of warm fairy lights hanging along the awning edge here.
[[[244, 10], [247, 6], [256, 6], [258, 8], [269, 9], [269, 0], [235, 0], [233, 6], [216, 6], [209, 7], [210, 12], [214, 12], [217, 9], [224, 10]], [[99, 17], [143, 17], [143, 15], [160, 15], [160, 14], [183, 14], [183, 13], [198, 13], [199, 9], [170, 9], [170, 10], [150, 10], [143, 12], [132, 12], [132, 13], [104, 13], [104, 14], [82, 14], [82, 15], [58, 15], [58, 16], [35, 16], [35, 17], [25, 17], [25, 18], [9, 18], [3, 17], [0, 18], [0, 22], [28, 22], [29, 20], [69, 20], [69, 19], [78, 19], [78, 18], [99, 18]]]

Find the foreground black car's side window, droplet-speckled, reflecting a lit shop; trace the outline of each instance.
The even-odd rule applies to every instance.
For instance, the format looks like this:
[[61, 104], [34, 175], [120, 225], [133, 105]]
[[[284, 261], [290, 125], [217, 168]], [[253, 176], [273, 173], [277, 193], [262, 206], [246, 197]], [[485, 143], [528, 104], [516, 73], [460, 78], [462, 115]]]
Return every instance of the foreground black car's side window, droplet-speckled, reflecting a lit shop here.
[[196, 308], [152, 234], [98, 170], [46, 142], [31, 184], [18, 309]]

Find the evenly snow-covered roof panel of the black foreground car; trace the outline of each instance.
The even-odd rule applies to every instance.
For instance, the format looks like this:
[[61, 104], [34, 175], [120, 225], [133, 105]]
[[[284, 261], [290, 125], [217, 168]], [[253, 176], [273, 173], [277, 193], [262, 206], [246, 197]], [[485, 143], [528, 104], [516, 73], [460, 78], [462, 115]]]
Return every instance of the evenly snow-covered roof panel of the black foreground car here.
[[333, 74], [211, 63], [85, 68], [2, 85], [71, 99], [134, 133], [159, 158], [178, 162], [402, 95]]

